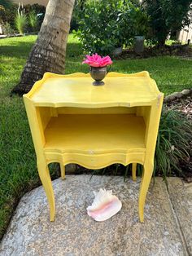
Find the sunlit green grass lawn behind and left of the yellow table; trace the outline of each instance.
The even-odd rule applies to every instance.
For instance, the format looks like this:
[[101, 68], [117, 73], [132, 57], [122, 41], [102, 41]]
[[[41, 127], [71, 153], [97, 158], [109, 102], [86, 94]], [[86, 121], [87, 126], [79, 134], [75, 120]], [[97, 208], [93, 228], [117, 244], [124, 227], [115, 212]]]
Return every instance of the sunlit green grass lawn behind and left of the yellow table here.
[[[0, 237], [20, 197], [40, 184], [23, 99], [15, 95], [10, 97], [36, 38], [26, 36], [0, 40]], [[80, 43], [70, 35], [66, 73], [89, 72], [89, 68], [81, 64], [83, 58]], [[192, 87], [191, 67], [191, 60], [156, 57], [115, 60], [111, 71], [135, 73], [147, 70], [155, 78], [159, 90], [168, 95]], [[58, 176], [54, 168], [51, 176], [52, 179]]]

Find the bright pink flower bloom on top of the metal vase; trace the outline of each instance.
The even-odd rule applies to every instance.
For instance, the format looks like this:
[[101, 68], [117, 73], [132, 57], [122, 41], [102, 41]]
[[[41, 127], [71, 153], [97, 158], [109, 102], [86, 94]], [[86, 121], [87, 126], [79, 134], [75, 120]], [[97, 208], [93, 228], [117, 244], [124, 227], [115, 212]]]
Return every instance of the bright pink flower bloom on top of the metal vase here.
[[86, 59], [82, 62], [82, 64], [88, 64], [91, 67], [104, 67], [112, 64], [112, 60], [110, 56], [101, 57], [97, 53], [94, 55], [86, 55]]

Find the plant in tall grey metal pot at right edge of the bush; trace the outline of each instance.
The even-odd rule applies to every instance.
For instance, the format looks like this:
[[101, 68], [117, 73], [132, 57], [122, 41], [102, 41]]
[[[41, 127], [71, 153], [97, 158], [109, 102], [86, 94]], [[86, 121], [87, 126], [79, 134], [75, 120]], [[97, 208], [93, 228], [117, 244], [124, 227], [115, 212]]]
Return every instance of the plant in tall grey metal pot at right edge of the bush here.
[[144, 51], [144, 40], [149, 30], [149, 16], [138, 7], [135, 9], [134, 30], [133, 50], [135, 53], [141, 54]]

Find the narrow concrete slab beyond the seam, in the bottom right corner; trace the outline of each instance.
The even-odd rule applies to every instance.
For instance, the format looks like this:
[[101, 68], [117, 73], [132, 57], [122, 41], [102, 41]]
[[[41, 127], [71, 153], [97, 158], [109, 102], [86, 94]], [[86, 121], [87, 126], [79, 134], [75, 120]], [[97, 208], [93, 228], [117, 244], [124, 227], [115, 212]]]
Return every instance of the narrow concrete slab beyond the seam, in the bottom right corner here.
[[188, 253], [192, 255], [192, 183], [181, 179], [168, 179], [168, 193]]

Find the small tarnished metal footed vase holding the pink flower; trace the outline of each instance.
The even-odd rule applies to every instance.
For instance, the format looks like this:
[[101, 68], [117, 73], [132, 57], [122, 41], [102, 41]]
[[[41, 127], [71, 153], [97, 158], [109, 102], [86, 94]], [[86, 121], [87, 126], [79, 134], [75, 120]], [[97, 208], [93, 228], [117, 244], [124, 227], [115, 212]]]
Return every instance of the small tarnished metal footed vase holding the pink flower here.
[[102, 81], [107, 75], [107, 66], [105, 67], [90, 67], [90, 75], [95, 80], [94, 86], [103, 86], [105, 83]]

